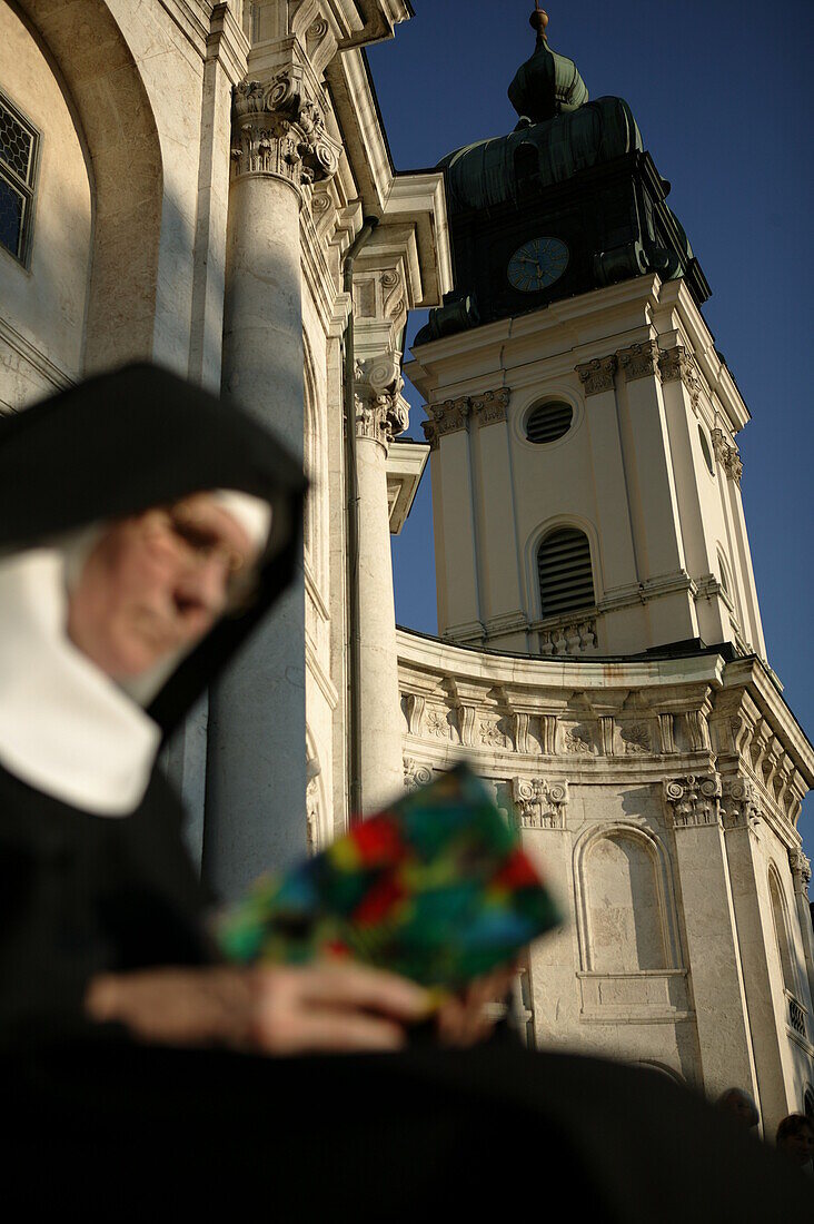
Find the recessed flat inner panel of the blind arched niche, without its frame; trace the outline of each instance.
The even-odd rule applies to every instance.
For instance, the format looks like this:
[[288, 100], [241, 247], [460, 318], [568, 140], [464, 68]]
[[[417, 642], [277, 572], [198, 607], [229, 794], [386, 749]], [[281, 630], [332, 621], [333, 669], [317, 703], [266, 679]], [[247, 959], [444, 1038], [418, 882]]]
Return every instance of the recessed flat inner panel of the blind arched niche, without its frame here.
[[585, 884], [594, 972], [667, 968], [656, 864], [645, 843], [624, 834], [600, 837]]

